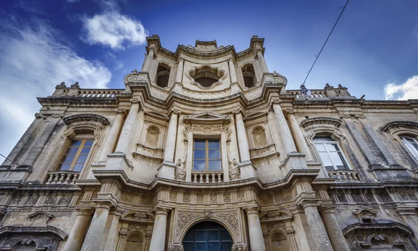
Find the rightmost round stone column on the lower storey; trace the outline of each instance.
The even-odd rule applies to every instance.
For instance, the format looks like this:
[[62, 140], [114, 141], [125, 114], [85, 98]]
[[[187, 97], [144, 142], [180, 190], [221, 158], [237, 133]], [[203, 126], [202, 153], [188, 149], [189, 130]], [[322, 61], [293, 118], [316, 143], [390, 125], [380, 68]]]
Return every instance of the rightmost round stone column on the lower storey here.
[[336, 220], [334, 209], [324, 208], [323, 211], [321, 211], [321, 215], [334, 250], [350, 251], [346, 238], [344, 238], [343, 232]]

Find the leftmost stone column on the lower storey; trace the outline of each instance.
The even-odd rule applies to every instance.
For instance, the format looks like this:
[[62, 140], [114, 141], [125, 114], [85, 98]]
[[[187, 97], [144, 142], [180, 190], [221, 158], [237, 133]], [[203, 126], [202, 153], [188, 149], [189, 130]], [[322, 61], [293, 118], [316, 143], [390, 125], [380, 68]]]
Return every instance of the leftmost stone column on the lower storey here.
[[78, 209], [77, 218], [75, 219], [74, 225], [72, 225], [70, 236], [68, 236], [63, 251], [79, 251], [82, 248], [84, 235], [86, 234], [92, 211], [91, 208]]

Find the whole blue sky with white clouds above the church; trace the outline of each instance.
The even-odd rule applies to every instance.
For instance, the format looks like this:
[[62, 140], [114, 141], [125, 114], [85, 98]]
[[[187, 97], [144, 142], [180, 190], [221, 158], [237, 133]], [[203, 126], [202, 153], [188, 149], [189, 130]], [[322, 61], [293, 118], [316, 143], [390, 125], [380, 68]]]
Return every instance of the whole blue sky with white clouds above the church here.
[[[141, 68], [145, 37], [162, 46], [217, 40], [245, 50], [265, 38], [270, 71], [298, 89], [346, 0], [2, 0], [0, 153], [7, 155], [54, 86], [123, 88]], [[418, 97], [418, 1], [350, 0], [307, 80], [366, 99]], [[0, 162], [2, 159], [0, 158]]]

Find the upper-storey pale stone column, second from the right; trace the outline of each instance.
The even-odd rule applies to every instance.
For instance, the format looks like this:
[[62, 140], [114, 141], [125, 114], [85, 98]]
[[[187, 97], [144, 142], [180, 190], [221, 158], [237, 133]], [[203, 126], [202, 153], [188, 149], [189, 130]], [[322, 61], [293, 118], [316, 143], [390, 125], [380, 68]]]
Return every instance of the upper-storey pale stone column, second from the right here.
[[278, 132], [273, 133], [279, 133], [281, 144], [283, 144], [284, 150], [286, 151], [285, 156], [288, 155], [288, 153], [297, 152], [295, 142], [293, 142], [291, 130], [289, 129], [288, 124], [286, 123], [286, 118], [281, 110], [280, 101], [274, 100], [272, 107], [274, 114], [276, 114], [277, 128], [279, 129]]

